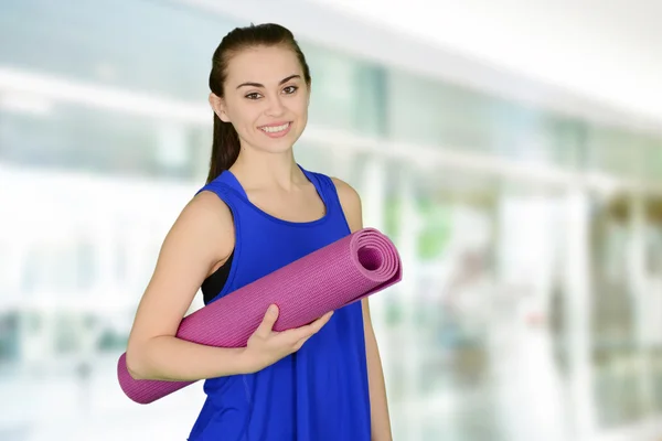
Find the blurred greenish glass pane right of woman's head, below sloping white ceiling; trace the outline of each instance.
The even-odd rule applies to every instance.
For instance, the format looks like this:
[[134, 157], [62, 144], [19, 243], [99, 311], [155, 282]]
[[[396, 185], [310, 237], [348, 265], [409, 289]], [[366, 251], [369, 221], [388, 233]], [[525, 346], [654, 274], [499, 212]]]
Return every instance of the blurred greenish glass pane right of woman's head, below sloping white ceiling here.
[[394, 139], [564, 166], [579, 158], [576, 121], [404, 72], [388, 78]]

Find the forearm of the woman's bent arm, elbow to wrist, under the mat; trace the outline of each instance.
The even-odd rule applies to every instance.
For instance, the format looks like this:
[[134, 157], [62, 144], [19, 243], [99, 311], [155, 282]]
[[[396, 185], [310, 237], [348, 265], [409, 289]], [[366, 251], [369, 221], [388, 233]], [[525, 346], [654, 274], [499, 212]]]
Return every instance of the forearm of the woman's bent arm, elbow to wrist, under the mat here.
[[194, 381], [252, 372], [244, 348], [205, 346], [174, 336], [153, 337], [127, 351], [134, 378]]

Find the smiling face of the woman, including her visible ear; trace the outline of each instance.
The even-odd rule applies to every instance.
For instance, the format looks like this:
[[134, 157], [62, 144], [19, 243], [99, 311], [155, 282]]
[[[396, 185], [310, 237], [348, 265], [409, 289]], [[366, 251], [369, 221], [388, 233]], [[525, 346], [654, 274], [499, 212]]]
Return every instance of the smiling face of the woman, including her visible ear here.
[[309, 88], [296, 54], [286, 47], [255, 47], [234, 55], [225, 97], [211, 97], [222, 121], [232, 122], [244, 146], [290, 149], [308, 121]]

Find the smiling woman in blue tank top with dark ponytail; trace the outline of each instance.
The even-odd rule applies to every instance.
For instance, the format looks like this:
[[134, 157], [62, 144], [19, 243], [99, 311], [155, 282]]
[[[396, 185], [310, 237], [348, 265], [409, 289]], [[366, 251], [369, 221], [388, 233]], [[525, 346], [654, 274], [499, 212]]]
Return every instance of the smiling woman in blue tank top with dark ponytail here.
[[135, 378], [205, 379], [190, 441], [392, 438], [366, 301], [280, 333], [273, 305], [242, 348], [174, 336], [200, 287], [209, 304], [362, 228], [356, 192], [293, 159], [310, 85], [306, 58], [280, 25], [235, 29], [214, 53], [207, 183], [163, 241], [127, 348]]

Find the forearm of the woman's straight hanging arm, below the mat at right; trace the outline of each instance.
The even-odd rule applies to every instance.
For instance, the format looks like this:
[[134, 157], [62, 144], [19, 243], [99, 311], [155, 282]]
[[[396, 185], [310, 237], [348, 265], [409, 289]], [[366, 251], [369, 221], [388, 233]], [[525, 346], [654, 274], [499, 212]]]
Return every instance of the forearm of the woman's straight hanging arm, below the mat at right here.
[[373, 441], [391, 441], [391, 418], [388, 415], [388, 401], [386, 398], [386, 385], [384, 370], [377, 341], [372, 327], [365, 333], [365, 349], [367, 357], [367, 378], [371, 401], [371, 431]]

